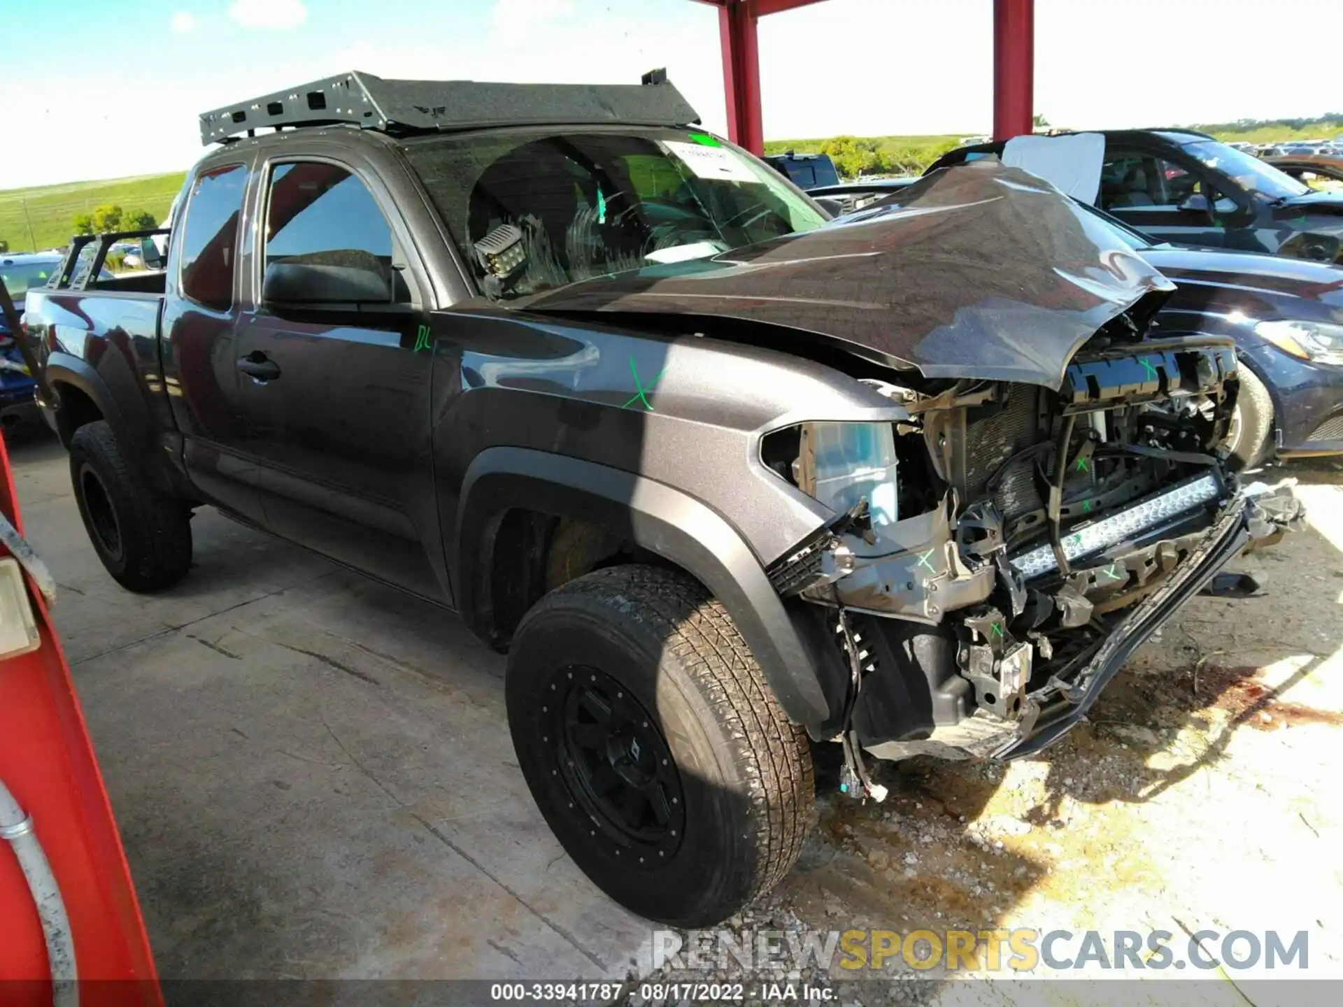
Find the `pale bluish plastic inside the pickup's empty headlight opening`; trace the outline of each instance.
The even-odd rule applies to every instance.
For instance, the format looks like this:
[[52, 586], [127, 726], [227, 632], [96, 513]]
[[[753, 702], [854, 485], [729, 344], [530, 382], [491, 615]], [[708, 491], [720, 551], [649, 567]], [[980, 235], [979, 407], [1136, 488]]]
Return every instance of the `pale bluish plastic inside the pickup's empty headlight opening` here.
[[896, 431], [889, 423], [803, 423], [792, 481], [837, 514], [861, 499], [874, 528], [896, 513]]

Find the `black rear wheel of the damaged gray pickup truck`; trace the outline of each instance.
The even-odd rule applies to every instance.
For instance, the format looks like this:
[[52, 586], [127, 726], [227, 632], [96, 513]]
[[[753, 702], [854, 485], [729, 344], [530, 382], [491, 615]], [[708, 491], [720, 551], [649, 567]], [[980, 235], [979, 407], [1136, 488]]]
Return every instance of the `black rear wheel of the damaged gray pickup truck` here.
[[157, 591], [187, 575], [191, 512], [145, 485], [106, 420], [70, 439], [70, 478], [89, 541], [118, 584]]

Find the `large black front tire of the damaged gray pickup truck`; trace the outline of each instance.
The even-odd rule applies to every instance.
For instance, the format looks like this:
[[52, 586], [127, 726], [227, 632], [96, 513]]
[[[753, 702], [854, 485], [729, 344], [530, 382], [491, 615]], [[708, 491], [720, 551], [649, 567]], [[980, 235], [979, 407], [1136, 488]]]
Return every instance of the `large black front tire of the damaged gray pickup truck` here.
[[[556, 697], [575, 687], [573, 675], [614, 682], [622, 702], [650, 714], [684, 795], [676, 849], [622, 841], [590, 814], [591, 799], [584, 807], [575, 798], [573, 749], [555, 733]], [[598, 888], [639, 916], [721, 922], [798, 859], [815, 820], [806, 732], [788, 722], [732, 619], [693, 579], [627, 565], [552, 591], [513, 638], [506, 700], [518, 764], [545, 820]], [[657, 744], [645, 741], [643, 752]]]

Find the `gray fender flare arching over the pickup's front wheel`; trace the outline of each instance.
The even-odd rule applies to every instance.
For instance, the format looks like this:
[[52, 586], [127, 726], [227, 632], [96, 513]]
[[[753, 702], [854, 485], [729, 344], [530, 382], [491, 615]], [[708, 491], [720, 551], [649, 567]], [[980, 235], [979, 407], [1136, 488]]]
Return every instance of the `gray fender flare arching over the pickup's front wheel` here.
[[[813, 733], [834, 722], [845, 698], [838, 651], [834, 662], [817, 661], [815, 634], [798, 624], [741, 534], [701, 501], [598, 462], [522, 447], [486, 448], [471, 461], [449, 569], [458, 610], [478, 635], [488, 635], [481, 588], [494, 537], [513, 509], [599, 522], [686, 571], [727, 608], [784, 713]], [[829, 681], [835, 674], [838, 683]]]

